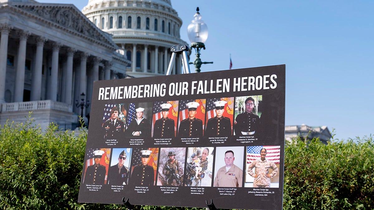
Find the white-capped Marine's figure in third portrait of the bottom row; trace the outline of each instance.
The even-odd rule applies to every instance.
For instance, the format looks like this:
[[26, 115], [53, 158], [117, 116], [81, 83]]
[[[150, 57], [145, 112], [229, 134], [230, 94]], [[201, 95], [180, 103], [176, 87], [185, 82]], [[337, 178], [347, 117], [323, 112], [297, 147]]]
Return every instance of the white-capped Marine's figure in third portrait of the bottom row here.
[[131, 174], [130, 182], [132, 185], [136, 186], [152, 186], [154, 185], [154, 170], [153, 167], [148, 165], [150, 161], [149, 156], [152, 151], [142, 150], [141, 154], [141, 164], [134, 167], [134, 171]]

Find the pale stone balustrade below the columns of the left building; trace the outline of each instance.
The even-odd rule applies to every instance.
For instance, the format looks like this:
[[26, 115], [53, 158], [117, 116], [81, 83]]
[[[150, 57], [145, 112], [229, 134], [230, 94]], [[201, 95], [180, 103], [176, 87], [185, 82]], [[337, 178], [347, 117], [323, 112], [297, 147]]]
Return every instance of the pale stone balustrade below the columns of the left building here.
[[27, 101], [2, 104], [1, 112], [33, 111], [40, 109], [53, 109], [57, 111], [72, 112], [73, 105], [57, 101]]

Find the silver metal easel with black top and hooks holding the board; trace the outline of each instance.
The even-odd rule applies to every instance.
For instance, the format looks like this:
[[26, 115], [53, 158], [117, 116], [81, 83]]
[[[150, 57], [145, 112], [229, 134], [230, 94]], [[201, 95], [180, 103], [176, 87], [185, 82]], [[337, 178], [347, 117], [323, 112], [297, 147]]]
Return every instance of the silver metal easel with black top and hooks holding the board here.
[[[168, 67], [168, 71], [166, 72], [166, 75], [171, 74], [171, 69], [173, 68], [175, 58], [177, 57], [177, 54], [181, 54], [181, 59], [182, 59], [182, 65], [183, 65], [183, 73], [184, 74], [189, 74], [190, 73], [190, 65], [188, 64], [188, 57], [187, 57], [187, 51], [188, 47], [185, 44], [177, 44], [174, 45], [170, 48], [170, 51], [172, 52], [171, 54], [171, 59]], [[122, 198], [122, 203], [125, 204], [125, 206], [129, 209], [132, 210], [134, 209], [135, 205], [130, 204], [129, 198], [125, 200], [125, 197]], [[208, 201], [205, 200], [206, 205], [208, 206], [209, 210], [217, 210], [217, 208], [213, 204], [213, 200], [211, 199], [211, 204], [208, 204]], [[207, 208], [207, 209], [208, 209]]]

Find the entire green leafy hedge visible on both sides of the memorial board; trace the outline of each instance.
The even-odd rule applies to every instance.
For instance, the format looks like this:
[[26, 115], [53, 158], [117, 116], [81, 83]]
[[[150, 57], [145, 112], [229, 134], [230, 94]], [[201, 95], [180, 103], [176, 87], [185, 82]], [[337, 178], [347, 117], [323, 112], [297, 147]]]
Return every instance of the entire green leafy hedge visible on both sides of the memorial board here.
[[[0, 209], [127, 209], [77, 203], [87, 135], [51, 124], [0, 126]], [[374, 209], [373, 137], [286, 142], [284, 209]], [[181, 198], [183, 199], [183, 198]], [[136, 206], [144, 210], [201, 208]]]

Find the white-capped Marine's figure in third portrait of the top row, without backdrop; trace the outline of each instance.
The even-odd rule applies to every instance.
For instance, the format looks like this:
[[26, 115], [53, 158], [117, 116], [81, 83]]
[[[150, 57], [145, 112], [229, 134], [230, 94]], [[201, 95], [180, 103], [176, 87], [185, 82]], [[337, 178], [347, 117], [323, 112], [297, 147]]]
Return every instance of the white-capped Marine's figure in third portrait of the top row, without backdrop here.
[[153, 138], [175, 137], [175, 123], [168, 117], [171, 104], [161, 104], [162, 118], [156, 120], [153, 127]]

